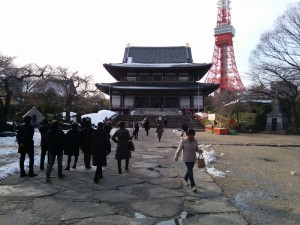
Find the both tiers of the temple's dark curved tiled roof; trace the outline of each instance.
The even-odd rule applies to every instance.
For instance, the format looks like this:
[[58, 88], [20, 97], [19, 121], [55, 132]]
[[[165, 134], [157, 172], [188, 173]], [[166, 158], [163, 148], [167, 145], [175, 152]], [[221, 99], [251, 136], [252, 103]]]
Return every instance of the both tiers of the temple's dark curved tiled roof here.
[[[105, 69], [118, 81], [116, 83], [98, 83], [96, 87], [106, 94], [158, 92], [178, 95], [179, 93], [193, 94], [201, 91], [209, 95], [219, 88], [219, 84], [197, 83], [211, 68], [211, 63], [193, 63], [192, 52], [189, 46], [175, 47], [134, 47], [125, 48], [123, 63], [103, 64]], [[126, 80], [128, 74], [154, 73], [186, 73], [192, 81], [121, 81]], [[164, 76], [164, 75], [163, 75]]]

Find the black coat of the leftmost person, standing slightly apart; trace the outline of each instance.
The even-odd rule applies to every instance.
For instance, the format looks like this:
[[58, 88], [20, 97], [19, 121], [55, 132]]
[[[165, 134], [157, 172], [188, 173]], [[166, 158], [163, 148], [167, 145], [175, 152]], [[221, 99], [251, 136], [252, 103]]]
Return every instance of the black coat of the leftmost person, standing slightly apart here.
[[17, 132], [17, 142], [19, 145], [18, 153], [33, 153], [34, 152], [34, 127], [30, 124], [25, 124], [19, 128]]

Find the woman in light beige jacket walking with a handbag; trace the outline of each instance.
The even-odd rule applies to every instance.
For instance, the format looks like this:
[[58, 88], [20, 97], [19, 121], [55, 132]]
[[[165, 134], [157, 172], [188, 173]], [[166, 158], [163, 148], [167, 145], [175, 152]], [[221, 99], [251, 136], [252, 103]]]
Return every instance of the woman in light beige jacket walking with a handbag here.
[[196, 161], [196, 152], [202, 154], [202, 150], [198, 147], [198, 141], [195, 139], [195, 130], [189, 129], [187, 131], [187, 137], [182, 138], [175, 152], [175, 161], [178, 161], [178, 157], [182, 151], [182, 159], [185, 162], [187, 172], [184, 176], [185, 185], [188, 185], [188, 180], [191, 182], [191, 188], [193, 192], [197, 191], [194, 181], [193, 168]]

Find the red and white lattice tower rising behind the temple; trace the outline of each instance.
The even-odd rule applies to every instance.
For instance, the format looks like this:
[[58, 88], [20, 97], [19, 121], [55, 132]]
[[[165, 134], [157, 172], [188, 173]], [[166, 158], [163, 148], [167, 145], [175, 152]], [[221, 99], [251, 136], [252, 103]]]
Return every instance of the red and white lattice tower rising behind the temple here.
[[245, 90], [239, 76], [232, 38], [235, 29], [231, 25], [230, 0], [218, 0], [218, 18], [215, 27], [215, 48], [212, 58], [212, 67], [209, 70], [205, 83], [220, 84], [217, 92], [237, 92]]

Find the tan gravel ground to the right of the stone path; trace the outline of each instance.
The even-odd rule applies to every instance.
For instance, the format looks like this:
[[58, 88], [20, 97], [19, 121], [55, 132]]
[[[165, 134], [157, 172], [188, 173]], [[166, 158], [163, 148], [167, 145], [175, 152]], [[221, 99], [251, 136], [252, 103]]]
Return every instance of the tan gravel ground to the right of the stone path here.
[[209, 167], [226, 173], [214, 180], [249, 224], [300, 224], [299, 136], [201, 132], [198, 140], [212, 144]]

